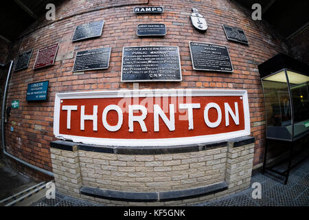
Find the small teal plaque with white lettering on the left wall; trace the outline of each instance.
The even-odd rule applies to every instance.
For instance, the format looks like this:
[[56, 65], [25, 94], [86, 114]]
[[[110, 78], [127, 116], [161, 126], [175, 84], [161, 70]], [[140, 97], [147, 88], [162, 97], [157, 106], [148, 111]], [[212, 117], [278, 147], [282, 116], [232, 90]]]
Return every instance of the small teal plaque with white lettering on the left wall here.
[[47, 99], [49, 81], [30, 83], [27, 88], [27, 101], [38, 101]]

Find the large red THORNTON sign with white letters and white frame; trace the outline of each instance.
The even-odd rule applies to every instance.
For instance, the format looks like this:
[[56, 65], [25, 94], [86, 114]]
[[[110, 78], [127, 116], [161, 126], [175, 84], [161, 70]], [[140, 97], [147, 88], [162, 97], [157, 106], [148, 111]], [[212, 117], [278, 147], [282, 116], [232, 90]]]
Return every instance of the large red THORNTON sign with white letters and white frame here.
[[54, 135], [73, 142], [169, 146], [249, 134], [245, 90], [87, 91], [55, 98]]

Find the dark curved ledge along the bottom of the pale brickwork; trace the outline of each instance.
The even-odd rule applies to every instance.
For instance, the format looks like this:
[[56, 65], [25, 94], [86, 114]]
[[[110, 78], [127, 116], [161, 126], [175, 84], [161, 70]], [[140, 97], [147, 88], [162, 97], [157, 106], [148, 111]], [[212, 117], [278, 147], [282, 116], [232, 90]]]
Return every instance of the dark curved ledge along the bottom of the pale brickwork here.
[[157, 202], [157, 201], [176, 201], [191, 199], [205, 195], [211, 195], [216, 192], [227, 190], [225, 181], [209, 186], [190, 188], [187, 190], [173, 190], [163, 192], [122, 192], [117, 190], [106, 190], [83, 186], [80, 189], [82, 195], [87, 195], [100, 199], [110, 199], [116, 201], [135, 201], [135, 202]]

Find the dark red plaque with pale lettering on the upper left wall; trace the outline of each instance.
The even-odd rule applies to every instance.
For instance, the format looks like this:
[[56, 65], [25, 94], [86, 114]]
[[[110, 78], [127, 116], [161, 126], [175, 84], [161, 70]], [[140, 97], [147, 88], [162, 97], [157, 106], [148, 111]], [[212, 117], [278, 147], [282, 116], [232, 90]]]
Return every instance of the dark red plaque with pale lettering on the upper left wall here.
[[38, 69], [41, 67], [48, 67], [54, 65], [56, 54], [58, 51], [59, 43], [50, 45], [48, 47], [41, 48], [36, 54], [36, 61], [34, 63], [33, 69]]

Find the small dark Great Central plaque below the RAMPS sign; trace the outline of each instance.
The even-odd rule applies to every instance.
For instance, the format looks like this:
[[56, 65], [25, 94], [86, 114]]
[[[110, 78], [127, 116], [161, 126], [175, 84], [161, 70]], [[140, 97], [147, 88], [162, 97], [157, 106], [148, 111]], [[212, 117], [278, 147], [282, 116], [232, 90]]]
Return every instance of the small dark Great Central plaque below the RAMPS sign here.
[[164, 36], [166, 26], [163, 23], [143, 23], [137, 25], [137, 36]]

